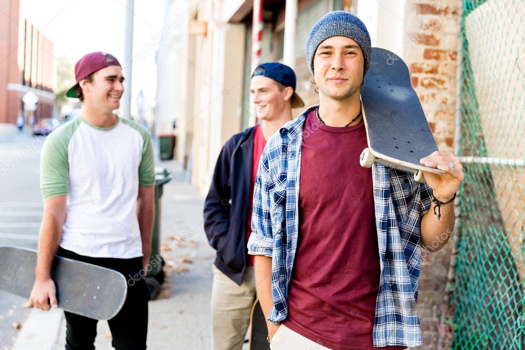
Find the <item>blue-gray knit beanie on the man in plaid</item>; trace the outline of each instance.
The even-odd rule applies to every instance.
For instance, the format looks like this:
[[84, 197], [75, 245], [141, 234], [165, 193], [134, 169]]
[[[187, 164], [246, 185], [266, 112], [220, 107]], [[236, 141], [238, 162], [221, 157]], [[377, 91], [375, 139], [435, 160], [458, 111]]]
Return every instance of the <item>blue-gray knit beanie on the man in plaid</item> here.
[[370, 35], [361, 19], [346, 11], [334, 11], [324, 15], [310, 30], [306, 42], [306, 60], [312, 76], [313, 56], [316, 54], [317, 48], [324, 40], [334, 36], [345, 36], [358, 43], [364, 56], [364, 76], [370, 67], [372, 56]]

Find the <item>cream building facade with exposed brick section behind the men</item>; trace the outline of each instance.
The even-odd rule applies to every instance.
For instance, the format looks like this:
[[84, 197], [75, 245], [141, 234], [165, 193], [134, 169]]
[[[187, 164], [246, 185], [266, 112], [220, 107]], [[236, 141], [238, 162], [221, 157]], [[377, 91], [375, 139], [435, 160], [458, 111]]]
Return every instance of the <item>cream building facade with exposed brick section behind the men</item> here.
[[[202, 194], [225, 141], [254, 123], [250, 108], [253, 45], [260, 62], [281, 61], [296, 72], [297, 92], [306, 105], [318, 102], [304, 57], [309, 31], [327, 12], [347, 10], [369, 29], [372, 46], [395, 52], [409, 67], [412, 84], [441, 151], [454, 151], [459, 16], [450, 0], [262, 0], [260, 43], [253, 39], [257, 0], [166, 0], [170, 35], [157, 52], [159, 87], [156, 124], [171, 131], [176, 120], [178, 162]], [[295, 18], [286, 18], [288, 12]], [[295, 33], [285, 33], [285, 23]], [[293, 52], [285, 58], [285, 52]], [[290, 58], [291, 57], [291, 58]], [[297, 116], [301, 111], [294, 110]], [[446, 283], [453, 243], [423, 253], [419, 284], [422, 349], [442, 344]]]

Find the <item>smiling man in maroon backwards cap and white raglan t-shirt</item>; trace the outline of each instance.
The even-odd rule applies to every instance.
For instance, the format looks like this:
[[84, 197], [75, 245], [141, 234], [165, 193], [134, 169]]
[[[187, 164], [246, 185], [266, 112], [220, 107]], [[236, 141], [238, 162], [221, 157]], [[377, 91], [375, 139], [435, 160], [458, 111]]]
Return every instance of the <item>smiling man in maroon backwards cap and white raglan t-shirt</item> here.
[[[154, 160], [143, 126], [113, 113], [124, 88], [119, 61], [92, 52], [75, 65], [67, 96], [82, 101], [80, 115], [49, 134], [40, 156], [44, 214], [35, 284], [29, 302], [57, 307], [51, 263], [55, 254], [143, 276], [154, 217]], [[67, 215], [66, 215], [67, 214]], [[121, 311], [109, 320], [117, 350], [146, 348], [148, 287], [128, 283]], [[95, 349], [97, 320], [65, 312], [66, 350]]]

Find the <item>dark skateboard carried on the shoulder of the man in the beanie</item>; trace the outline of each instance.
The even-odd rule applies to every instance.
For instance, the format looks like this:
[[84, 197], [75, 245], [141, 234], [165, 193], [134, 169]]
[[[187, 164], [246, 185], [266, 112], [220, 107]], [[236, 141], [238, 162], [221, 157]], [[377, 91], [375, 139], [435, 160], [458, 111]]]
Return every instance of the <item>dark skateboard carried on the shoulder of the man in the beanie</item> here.
[[425, 182], [423, 171], [444, 171], [419, 163], [423, 157], [438, 151], [423, 107], [412, 88], [405, 62], [391, 51], [372, 48], [370, 69], [361, 87], [363, 120], [368, 147], [360, 163], [371, 167], [374, 162], [414, 174]]

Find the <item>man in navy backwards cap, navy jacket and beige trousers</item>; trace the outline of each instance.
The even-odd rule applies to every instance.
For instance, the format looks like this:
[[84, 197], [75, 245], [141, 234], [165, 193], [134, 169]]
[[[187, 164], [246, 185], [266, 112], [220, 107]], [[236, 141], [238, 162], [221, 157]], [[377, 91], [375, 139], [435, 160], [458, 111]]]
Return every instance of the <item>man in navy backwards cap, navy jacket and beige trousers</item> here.
[[292, 120], [304, 103], [295, 93], [296, 76], [281, 63], [262, 63], [251, 76], [251, 93], [262, 124], [233, 135], [217, 159], [204, 204], [204, 230], [217, 251], [213, 266], [212, 348], [240, 350], [255, 301], [251, 234], [255, 176], [266, 140]]

